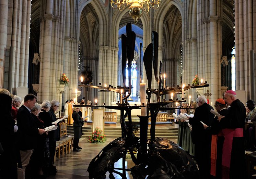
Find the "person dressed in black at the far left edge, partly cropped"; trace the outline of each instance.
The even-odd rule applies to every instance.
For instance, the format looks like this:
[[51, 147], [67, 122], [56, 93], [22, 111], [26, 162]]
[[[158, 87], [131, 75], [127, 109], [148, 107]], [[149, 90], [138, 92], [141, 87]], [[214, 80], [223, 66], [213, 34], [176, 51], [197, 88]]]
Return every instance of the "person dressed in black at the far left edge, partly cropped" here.
[[17, 178], [17, 156], [15, 150], [14, 123], [11, 116], [12, 99], [0, 93], [0, 178]]

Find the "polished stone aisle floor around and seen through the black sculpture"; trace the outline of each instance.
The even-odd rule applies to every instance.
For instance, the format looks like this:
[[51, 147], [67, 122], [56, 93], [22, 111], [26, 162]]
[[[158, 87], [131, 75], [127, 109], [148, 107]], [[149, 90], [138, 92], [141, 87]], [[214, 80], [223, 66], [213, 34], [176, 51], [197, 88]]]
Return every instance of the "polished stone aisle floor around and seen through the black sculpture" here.
[[[109, 126], [110, 127], [110, 126]], [[173, 126], [175, 127], [175, 126]], [[107, 143], [104, 144], [91, 144], [87, 142], [87, 137], [83, 136], [79, 141], [79, 146], [82, 147], [80, 152], [71, 152], [60, 158], [59, 161], [56, 161], [55, 165], [57, 168], [56, 176], [48, 177], [49, 179], [86, 179], [89, 178], [89, 173], [86, 172], [89, 163], [92, 158], [94, 158], [101, 149], [111, 142], [114, 139], [107, 139]], [[177, 139], [173, 139], [172, 141], [177, 142]], [[122, 161], [121, 159], [115, 163], [115, 167], [121, 168]], [[131, 168], [133, 166], [133, 162], [131, 159], [127, 159], [126, 168]], [[130, 172], [126, 172], [127, 178], [132, 178]], [[108, 173], [106, 174], [106, 178], [108, 178]], [[121, 178], [119, 175], [115, 175], [115, 178]]]

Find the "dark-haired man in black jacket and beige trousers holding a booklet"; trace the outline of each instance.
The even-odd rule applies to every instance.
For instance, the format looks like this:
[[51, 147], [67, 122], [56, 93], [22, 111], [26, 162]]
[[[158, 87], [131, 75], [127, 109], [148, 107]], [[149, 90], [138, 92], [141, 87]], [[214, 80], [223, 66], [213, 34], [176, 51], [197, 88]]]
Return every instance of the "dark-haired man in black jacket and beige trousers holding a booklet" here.
[[18, 179], [25, 178], [26, 166], [36, 146], [37, 135], [45, 133], [44, 129], [39, 129], [30, 110], [35, 106], [36, 96], [27, 94], [24, 98], [24, 104], [17, 113], [17, 126], [19, 127], [19, 149], [21, 155], [22, 168], [18, 168]]

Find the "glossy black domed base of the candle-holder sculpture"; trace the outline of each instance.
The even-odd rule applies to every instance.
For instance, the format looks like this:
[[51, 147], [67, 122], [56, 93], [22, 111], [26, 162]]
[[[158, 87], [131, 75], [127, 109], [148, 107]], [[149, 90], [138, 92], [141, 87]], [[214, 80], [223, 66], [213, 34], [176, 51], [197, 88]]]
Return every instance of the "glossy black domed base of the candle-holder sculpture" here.
[[[157, 137], [154, 146], [148, 140], [149, 150], [147, 157], [137, 160], [137, 165], [131, 168], [133, 178], [173, 178], [173, 179], [196, 179], [199, 172], [193, 159], [176, 143]], [[92, 159], [88, 167], [89, 178], [106, 178], [106, 172], [112, 171], [112, 166], [120, 158], [126, 156], [127, 149], [133, 146], [123, 138], [117, 138], [105, 146], [102, 151]], [[151, 149], [154, 147], [153, 149]], [[139, 148], [139, 147], [138, 147]], [[138, 157], [139, 157], [138, 152]], [[111, 172], [109, 172], [111, 173]]]

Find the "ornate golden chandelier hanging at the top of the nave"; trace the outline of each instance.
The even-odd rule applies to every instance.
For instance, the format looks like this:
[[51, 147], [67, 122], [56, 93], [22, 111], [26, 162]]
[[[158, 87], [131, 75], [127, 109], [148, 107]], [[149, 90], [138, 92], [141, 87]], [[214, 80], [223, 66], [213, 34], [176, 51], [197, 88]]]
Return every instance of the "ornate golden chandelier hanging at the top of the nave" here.
[[123, 11], [128, 5], [129, 14], [133, 18], [135, 24], [138, 22], [138, 18], [141, 17], [142, 12], [149, 12], [149, 9], [156, 9], [159, 7], [161, 0], [110, 0], [112, 8]]

